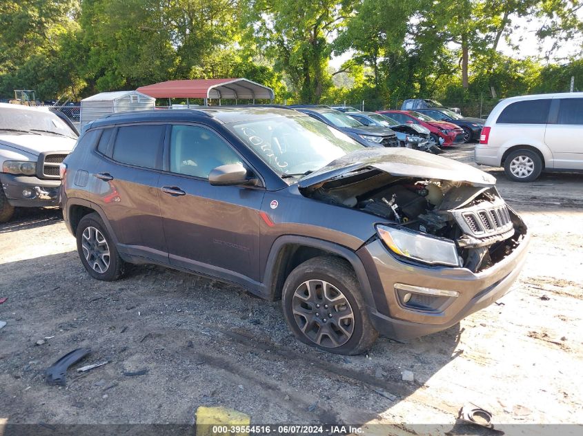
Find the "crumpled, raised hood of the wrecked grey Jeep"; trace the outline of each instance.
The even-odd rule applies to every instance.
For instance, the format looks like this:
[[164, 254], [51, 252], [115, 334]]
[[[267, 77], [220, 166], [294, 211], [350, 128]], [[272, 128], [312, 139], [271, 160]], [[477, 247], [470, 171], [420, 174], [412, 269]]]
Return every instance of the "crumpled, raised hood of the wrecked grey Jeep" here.
[[408, 148], [367, 148], [333, 160], [325, 167], [299, 180], [308, 188], [358, 169], [372, 167], [393, 176], [465, 182], [475, 186], [492, 186], [496, 178], [480, 169], [450, 158]]

